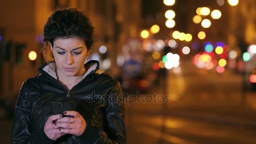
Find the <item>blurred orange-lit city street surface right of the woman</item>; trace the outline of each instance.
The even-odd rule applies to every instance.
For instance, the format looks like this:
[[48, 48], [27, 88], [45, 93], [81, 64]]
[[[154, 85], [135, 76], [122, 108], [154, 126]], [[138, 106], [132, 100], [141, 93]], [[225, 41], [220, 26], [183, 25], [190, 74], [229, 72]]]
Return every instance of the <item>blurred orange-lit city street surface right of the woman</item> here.
[[240, 75], [181, 61], [181, 73], [170, 70], [166, 80], [166, 87], [149, 93], [166, 88], [168, 104], [126, 104], [128, 144], [256, 143], [255, 95], [246, 93], [247, 104], [241, 105]]

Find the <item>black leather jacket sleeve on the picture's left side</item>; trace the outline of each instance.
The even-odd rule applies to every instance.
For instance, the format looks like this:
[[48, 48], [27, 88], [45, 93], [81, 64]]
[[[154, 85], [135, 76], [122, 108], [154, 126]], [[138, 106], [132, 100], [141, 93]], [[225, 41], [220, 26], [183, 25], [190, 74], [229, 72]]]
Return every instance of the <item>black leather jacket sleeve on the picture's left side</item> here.
[[43, 128], [37, 133], [31, 131], [31, 104], [29, 103], [29, 96], [33, 94], [31, 87], [26, 81], [21, 86], [13, 118], [12, 144], [50, 144], [53, 141], [45, 135]]

